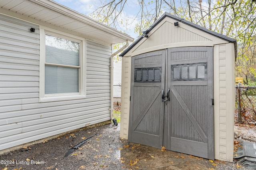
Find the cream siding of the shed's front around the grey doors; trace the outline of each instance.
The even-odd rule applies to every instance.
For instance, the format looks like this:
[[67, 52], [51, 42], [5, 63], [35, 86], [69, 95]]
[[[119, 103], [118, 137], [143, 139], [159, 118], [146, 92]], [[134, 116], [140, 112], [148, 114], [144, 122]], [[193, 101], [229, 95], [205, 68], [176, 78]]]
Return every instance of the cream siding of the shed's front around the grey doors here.
[[234, 140], [234, 44], [208, 33], [164, 18], [122, 57], [120, 137], [128, 139], [131, 57], [172, 47], [214, 47], [214, 152], [218, 160], [233, 161]]

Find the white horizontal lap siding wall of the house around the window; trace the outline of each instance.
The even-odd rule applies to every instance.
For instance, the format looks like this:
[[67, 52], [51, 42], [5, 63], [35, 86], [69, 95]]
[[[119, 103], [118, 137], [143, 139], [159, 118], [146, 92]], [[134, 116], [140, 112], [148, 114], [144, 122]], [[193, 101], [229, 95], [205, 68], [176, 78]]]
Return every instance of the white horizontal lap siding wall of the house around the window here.
[[86, 40], [86, 98], [39, 103], [39, 26], [0, 14], [0, 150], [110, 120], [111, 52]]

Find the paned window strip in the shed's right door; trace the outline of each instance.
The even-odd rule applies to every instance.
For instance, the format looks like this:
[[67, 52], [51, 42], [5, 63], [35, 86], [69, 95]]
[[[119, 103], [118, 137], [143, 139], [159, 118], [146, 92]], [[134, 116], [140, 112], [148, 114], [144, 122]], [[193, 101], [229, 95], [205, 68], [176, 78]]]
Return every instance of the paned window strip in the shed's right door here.
[[172, 81], [206, 80], [207, 63], [172, 65]]

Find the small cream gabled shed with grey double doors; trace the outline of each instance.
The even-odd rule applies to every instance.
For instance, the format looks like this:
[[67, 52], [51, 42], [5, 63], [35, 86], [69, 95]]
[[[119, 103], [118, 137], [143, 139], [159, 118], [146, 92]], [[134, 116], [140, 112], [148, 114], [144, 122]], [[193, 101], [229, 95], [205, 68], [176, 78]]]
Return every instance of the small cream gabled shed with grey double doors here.
[[165, 13], [121, 56], [120, 137], [233, 161], [236, 40]]

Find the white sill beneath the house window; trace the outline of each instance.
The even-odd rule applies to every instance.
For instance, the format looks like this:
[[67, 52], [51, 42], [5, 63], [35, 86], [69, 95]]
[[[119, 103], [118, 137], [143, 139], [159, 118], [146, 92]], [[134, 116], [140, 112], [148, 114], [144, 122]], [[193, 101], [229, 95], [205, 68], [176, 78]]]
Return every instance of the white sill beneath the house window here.
[[40, 98], [40, 103], [52, 102], [52, 101], [84, 99], [84, 98], [86, 98], [86, 95], [47, 96], [44, 98]]

